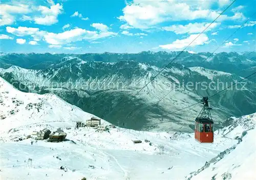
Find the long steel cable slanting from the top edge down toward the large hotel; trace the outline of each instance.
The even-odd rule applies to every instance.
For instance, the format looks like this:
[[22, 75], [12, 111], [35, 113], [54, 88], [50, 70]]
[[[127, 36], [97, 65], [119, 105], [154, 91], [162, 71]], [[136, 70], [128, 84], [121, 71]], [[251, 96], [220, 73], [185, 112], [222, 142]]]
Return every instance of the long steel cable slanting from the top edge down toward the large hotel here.
[[[154, 81], [157, 76], [164, 71], [170, 64], [172, 64], [186, 49], [187, 47], [189, 47], [193, 42], [195, 42], [197, 40], [197, 38], [203, 34], [212, 23], [214, 23], [230, 6], [232, 6], [232, 4], [234, 2], [236, 2], [237, 0], [232, 1], [232, 3], [230, 3], [228, 5], [227, 8], [225, 8], [211, 23], [209, 23], [209, 25], [207, 25], [207, 27], [193, 40], [191, 41], [172, 61], [170, 61], [164, 68], [162, 68], [162, 70], [160, 70], [148, 83], [146, 83], [131, 99], [127, 100], [119, 109], [122, 109], [129, 101], [131, 101], [132, 99], [134, 99], [148, 84], [150, 84], [152, 81]], [[119, 102], [119, 104], [121, 104], [122, 100], [124, 98], [121, 99], [121, 101]], [[117, 107], [117, 106], [116, 106]], [[110, 111], [107, 115], [104, 116], [104, 119], [106, 120], [106, 117], [108, 117], [113, 111], [115, 110], [115, 108], [113, 108], [112, 111]]]

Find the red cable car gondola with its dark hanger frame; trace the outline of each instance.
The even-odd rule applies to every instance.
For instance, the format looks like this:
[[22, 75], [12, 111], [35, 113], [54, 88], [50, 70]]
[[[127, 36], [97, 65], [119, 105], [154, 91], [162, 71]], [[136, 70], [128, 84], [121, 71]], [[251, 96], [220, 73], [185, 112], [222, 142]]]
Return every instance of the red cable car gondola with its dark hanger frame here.
[[212, 121], [208, 97], [201, 100], [204, 105], [195, 122], [195, 139], [201, 143], [214, 142], [214, 121]]

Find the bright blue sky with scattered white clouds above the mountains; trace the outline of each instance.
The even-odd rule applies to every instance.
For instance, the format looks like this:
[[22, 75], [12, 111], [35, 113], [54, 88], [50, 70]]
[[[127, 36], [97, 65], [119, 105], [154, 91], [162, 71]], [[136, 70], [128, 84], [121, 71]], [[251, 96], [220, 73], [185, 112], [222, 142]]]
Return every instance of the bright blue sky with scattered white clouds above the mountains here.
[[[182, 50], [231, 2], [2, 0], [0, 51], [82, 54]], [[255, 6], [254, 0], [237, 0], [186, 50], [213, 52], [241, 25], [218, 52], [256, 50]]]

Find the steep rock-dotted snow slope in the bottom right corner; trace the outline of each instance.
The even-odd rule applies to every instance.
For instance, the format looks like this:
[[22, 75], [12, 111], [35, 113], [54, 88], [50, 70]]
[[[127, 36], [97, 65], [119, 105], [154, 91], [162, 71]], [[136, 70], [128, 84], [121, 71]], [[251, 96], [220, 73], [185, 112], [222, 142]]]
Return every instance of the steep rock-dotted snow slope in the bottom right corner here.
[[208, 161], [188, 179], [255, 179], [256, 113], [231, 120], [232, 124], [224, 128], [222, 134], [239, 142]]

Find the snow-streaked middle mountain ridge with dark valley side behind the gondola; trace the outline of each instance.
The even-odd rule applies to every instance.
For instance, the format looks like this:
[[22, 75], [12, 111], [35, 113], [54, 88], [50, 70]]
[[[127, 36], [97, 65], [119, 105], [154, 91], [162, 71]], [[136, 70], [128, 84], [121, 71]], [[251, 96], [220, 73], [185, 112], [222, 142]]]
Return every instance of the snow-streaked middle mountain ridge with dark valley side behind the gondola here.
[[[160, 70], [157, 66], [135, 61], [87, 62], [68, 56], [46, 69], [11, 66], [0, 69], [0, 75], [19, 90], [39, 94], [54, 93], [82, 110], [116, 125], [135, 130], [151, 128], [182, 132], [192, 131], [189, 125], [193, 128], [193, 120], [201, 106], [176, 114], [169, 113], [195, 104], [202, 96], [211, 96], [220, 91], [219, 88], [224, 88], [214, 84], [214, 88], [203, 90], [201, 82], [209, 85], [212, 81], [221, 81], [229, 86], [242, 79], [236, 74], [199, 67], [189, 69], [173, 64], [134, 96]], [[188, 82], [193, 83], [192, 88], [186, 86]], [[233, 115], [241, 116], [256, 111], [255, 83], [245, 82], [245, 90], [228, 90], [211, 99], [215, 108], [213, 116], [218, 123]], [[162, 99], [164, 95], [166, 97]]]

